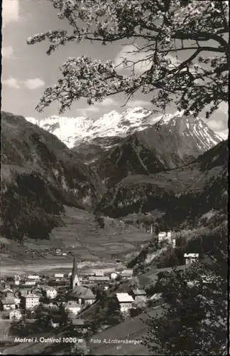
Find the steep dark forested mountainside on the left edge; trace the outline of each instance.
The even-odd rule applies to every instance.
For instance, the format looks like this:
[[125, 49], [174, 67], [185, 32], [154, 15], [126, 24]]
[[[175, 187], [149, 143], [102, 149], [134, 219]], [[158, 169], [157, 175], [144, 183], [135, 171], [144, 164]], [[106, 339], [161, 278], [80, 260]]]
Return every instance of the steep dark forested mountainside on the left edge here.
[[1, 164], [2, 231], [7, 237], [48, 236], [49, 215], [59, 214], [62, 204], [92, 209], [104, 192], [101, 179], [75, 152], [8, 112], [1, 113]]

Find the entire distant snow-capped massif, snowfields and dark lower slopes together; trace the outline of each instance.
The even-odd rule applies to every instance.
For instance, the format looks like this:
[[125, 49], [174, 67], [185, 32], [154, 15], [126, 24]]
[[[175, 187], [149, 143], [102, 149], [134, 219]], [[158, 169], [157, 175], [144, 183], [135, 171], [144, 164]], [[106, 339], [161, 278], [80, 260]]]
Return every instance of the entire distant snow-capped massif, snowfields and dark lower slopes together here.
[[221, 142], [204, 120], [183, 112], [155, 117], [151, 110], [111, 111], [99, 120], [49, 117], [26, 120], [56, 135], [101, 175], [106, 186], [128, 174], [149, 174], [192, 162]]

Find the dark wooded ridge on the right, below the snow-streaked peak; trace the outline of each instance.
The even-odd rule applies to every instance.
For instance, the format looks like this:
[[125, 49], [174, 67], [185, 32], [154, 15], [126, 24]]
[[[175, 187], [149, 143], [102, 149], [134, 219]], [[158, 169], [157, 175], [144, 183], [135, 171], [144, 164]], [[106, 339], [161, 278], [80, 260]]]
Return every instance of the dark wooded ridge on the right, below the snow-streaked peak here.
[[182, 167], [125, 177], [107, 189], [97, 209], [114, 218], [158, 210], [169, 224], [191, 223], [212, 209], [226, 214], [227, 177], [228, 140]]

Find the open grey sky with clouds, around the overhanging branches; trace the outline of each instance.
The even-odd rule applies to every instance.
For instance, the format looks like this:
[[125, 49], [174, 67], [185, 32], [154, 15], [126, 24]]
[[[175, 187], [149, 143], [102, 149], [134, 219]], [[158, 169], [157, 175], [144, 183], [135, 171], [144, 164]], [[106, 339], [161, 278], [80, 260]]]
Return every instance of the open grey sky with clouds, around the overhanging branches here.
[[[56, 83], [60, 78], [59, 67], [67, 57], [90, 56], [94, 59], [107, 61], [116, 60], [125, 51], [121, 43], [102, 46], [99, 43], [70, 43], [60, 47], [51, 56], [45, 51], [48, 43], [42, 42], [28, 46], [26, 40], [35, 33], [50, 29], [68, 28], [65, 21], [57, 19], [57, 11], [49, 1], [45, 0], [3, 0], [3, 43], [2, 43], [2, 103], [1, 109], [26, 117], [48, 117], [58, 115], [58, 104], [50, 105], [42, 113], [35, 111], [40, 95], [46, 86]], [[141, 70], [141, 68], [140, 68]], [[117, 110], [122, 112], [128, 106], [153, 108], [148, 95], [136, 94], [125, 108], [122, 95], [107, 98], [99, 105], [89, 106], [86, 100], [77, 100], [70, 111], [62, 116], [89, 115], [100, 117], [106, 112]], [[175, 108], [169, 108], [175, 112]], [[226, 130], [227, 104], [208, 120], [215, 131]]]

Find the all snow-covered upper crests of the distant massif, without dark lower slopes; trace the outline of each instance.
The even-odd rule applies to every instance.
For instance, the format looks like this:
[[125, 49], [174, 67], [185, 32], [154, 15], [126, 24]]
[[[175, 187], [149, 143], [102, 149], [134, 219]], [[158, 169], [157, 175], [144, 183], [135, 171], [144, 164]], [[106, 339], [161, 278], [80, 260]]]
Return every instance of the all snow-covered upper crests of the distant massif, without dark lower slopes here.
[[126, 137], [134, 132], [153, 127], [153, 125], [167, 125], [167, 130], [172, 130], [172, 127], [175, 126], [174, 130], [179, 131], [182, 135], [193, 135], [197, 137], [197, 140], [199, 137], [197, 144], [202, 145], [203, 148], [205, 146], [206, 150], [222, 140], [199, 117], [185, 116], [184, 112], [156, 117], [153, 110], [141, 107], [128, 108], [121, 113], [111, 110], [99, 117], [98, 120], [84, 116], [59, 117], [56, 115], [42, 120], [27, 117], [26, 120], [53, 133], [70, 148], [80, 147], [82, 142], [90, 143], [99, 137], [101, 139]]

